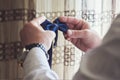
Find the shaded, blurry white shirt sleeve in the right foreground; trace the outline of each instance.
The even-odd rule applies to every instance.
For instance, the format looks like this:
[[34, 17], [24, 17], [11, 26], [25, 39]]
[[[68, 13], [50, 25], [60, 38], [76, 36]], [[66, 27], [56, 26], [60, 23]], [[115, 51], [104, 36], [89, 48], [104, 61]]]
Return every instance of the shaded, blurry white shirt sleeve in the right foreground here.
[[73, 80], [120, 80], [120, 15], [111, 24], [103, 43], [82, 57]]

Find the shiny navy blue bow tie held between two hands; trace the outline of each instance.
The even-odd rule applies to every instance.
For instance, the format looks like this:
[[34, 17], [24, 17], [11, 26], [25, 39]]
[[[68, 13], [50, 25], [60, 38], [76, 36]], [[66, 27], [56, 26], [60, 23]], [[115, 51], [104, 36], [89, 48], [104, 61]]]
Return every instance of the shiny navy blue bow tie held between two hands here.
[[68, 26], [63, 23], [60, 22], [60, 20], [57, 18], [53, 21], [53, 23], [51, 23], [50, 21], [48, 21], [47, 19], [41, 24], [41, 26], [43, 27], [44, 30], [51, 30], [54, 31], [56, 33], [56, 37], [55, 37], [55, 43], [54, 45], [57, 45], [57, 38], [58, 38], [58, 30], [62, 31], [63, 33], [66, 33], [68, 30]]

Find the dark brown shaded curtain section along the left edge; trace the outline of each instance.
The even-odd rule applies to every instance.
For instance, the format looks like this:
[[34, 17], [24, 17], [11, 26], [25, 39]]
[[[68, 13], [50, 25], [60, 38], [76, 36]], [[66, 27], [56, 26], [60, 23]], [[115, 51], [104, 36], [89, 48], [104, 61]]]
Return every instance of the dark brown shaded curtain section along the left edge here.
[[22, 80], [17, 56], [22, 52], [19, 31], [35, 17], [34, 0], [0, 0], [0, 80]]

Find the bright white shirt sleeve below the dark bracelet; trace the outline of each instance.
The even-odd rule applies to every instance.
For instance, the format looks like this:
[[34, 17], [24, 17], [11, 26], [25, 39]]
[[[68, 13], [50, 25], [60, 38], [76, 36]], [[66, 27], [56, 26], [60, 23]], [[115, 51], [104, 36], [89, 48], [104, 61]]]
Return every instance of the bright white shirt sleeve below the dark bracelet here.
[[49, 67], [46, 55], [40, 48], [32, 48], [24, 63], [24, 80], [58, 80], [57, 74]]

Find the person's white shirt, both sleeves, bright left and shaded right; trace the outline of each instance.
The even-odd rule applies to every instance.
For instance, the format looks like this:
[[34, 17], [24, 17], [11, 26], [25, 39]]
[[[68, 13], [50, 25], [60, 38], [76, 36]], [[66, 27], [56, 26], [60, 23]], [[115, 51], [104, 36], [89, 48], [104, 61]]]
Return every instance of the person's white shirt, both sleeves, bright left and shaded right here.
[[[82, 57], [73, 80], [120, 80], [120, 15], [114, 20], [103, 43]], [[25, 80], [59, 80], [40, 48], [33, 48], [23, 64]]]

